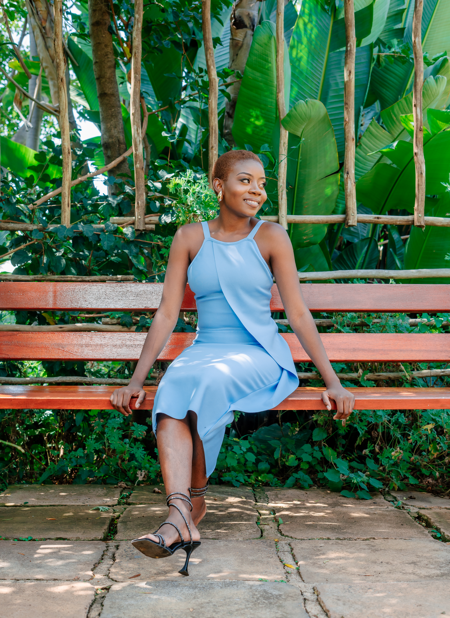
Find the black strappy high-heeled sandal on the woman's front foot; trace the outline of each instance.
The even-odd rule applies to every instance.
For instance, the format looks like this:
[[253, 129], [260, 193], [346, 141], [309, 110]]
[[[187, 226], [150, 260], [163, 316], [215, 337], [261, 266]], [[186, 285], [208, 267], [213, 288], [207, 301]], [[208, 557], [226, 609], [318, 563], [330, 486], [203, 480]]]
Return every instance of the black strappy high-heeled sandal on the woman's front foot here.
[[[189, 489], [189, 493], [190, 493], [190, 489]], [[186, 520], [186, 517], [184, 517], [183, 511], [180, 509], [180, 507], [176, 506], [176, 504], [173, 504], [173, 502], [170, 501], [171, 496], [184, 496], [184, 497], [172, 498], [172, 501], [173, 500], [183, 500], [183, 502], [188, 502], [189, 506], [191, 507], [191, 510], [193, 509], [192, 502], [189, 499], [189, 497], [186, 496], [186, 494], [183, 494], [181, 491], [175, 491], [174, 493], [169, 494], [166, 500], [167, 506], [169, 507], [173, 506], [175, 507], [176, 510], [178, 510], [178, 512], [180, 512], [181, 517], [183, 517], [184, 523], [186, 523], [186, 527], [188, 528], [190, 540], [184, 541], [180, 528], [178, 528], [178, 526], [175, 523], [163, 522], [160, 525], [160, 527], [158, 527], [157, 530], [155, 530], [155, 532], [153, 533], [155, 536], [158, 537], [159, 539], [158, 543], [156, 541], [152, 541], [151, 539], [134, 539], [131, 541], [131, 544], [133, 547], [138, 549], [142, 554], [144, 554], [144, 556], [148, 556], [149, 558], [167, 558], [168, 556], [173, 556], [173, 554], [175, 554], [175, 552], [178, 551], [178, 549], [184, 549], [184, 551], [186, 552], [186, 562], [184, 562], [183, 569], [179, 570], [178, 573], [181, 573], [181, 575], [189, 575], [188, 573], [189, 558], [191, 557], [191, 554], [194, 551], [194, 549], [197, 549], [197, 547], [201, 545], [201, 542], [193, 541], [192, 534], [191, 534], [191, 528], [189, 528], [188, 520]], [[176, 530], [178, 531], [178, 534], [180, 535], [181, 541], [175, 541], [175, 543], [172, 543], [171, 545], [167, 545], [164, 537], [158, 534], [158, 530], [165, 524], [170, 524], [171, 526], [176, 528]]]

